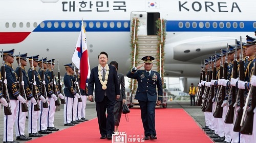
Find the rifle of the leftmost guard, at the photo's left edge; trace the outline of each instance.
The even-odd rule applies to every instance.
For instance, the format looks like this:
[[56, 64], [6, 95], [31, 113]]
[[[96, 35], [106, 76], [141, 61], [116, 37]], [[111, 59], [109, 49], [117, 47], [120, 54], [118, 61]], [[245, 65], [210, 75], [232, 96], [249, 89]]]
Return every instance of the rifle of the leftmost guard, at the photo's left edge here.
[[5, 64], [4, 64], [4, 51], [3, 51], [3, 49], [2, 49], [1, 75], [2, 75], [2, 86], [3, 86], [2, 87], [3, 98], [5, 98], [5, 100], [8, 103], [7, 107], [4, 106], [4, 112], [5, 112], [5, 115], [11, 115], [12, 111], [11, 111], [11, 108], [9, 106], [10, 105], [10, 97], [9, 97], [7, 85], [4, 83], [4, 80], [5, 80]]

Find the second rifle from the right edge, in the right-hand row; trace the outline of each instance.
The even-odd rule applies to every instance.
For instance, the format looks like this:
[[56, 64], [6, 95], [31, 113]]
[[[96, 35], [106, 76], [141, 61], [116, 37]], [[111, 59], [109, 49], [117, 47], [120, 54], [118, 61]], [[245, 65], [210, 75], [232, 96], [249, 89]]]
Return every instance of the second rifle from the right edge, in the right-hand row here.
[[[240, 55], [240, 61], [239, 61], [239, 79], [241, 81], [245, 80], [245, 75], [244, 75], [244, 60], [243, 60], [243, 47], [242, 47], [242, 37], [240, 36], [240, 41], [241, 41], [241, 55]], [[234, 122], [234, 132], [239, 132], [241, 130], [240, 123], [242, 121], [242, 114], [243, 114], [243, 107], [244, 107], [244, 89], [239, 89], [238, 90], [238, 96], [240, 98], [240, 108], [238, 109], [238, 115], [236, 122]], [[237, 107], [238, 100], [236, 101], [236, 107]], [[234, 108], [236, 110], [236, 108]]]

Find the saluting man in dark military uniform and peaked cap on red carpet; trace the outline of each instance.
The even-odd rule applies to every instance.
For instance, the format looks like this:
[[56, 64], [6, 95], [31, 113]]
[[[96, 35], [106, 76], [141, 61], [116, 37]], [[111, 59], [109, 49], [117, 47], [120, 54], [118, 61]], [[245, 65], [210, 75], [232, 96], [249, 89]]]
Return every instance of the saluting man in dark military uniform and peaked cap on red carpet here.
[[[155, 107], [161, 104], [162, 101], [162, 80], [157, 71], [152, 70], [153, 60], [152, 56], [145, 56], [143, 64], [134, 67], [127, 73], [128, 78], [136, 79], [138, 81], [138, 88], [135, 99], [139, 101], [141, 120], [143, 123], [145, 140], [157, 139], [155, 129]], [[144, 65], [144, 70], [138, 70]], [[156, 92], [157, 87], [157, 92]], [[158, 94], [158, 96], [157, 96]]]

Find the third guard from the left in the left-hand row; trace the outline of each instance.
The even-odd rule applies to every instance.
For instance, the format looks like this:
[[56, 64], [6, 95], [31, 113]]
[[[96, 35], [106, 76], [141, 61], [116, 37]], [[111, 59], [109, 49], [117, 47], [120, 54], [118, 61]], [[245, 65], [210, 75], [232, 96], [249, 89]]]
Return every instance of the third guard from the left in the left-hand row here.
[[[30, 68], [28, 70], [28, 77], [29, 77], [29, 81], [31, 84], [31, 89], [32, 89], [32, 93], [34, 98], [36, 99], [36, 103], [34, 103], [33, 101], [29, 101], [29, 120], [28, 120], [28, 131], [29, 131], [29, 136], [30, 137], [40, 137], [42, 136], [41, 134], [37, 133], [37, 120], [38, 120], [38, 116], [39, 116], [39, 99], [42, 102], [46, 102], [46, 99], [41, 96], [41, 93], [39, 91], [40, 87], [40, 75], [38, 74], [38, 72], [36, 71], [36, 67], [38, 66], [38, 56], [31, 56], [31, 57], [27, 57], [29, 59], [29, 64], [30, 64]], [[39, 98], [39, 99], [38, 99]], [[39, 109], [38, 109], [39, 107]]]

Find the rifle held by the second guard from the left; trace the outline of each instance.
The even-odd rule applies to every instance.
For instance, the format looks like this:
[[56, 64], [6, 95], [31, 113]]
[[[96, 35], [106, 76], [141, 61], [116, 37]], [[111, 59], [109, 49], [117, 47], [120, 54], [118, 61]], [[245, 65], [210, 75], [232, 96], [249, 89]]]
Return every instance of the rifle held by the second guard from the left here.
[[27, 97], [26, 97], [26, 92], [24, 90], [24, 86], [22, 85], [22, 81], [23, 81], [23, 73], [22, 73], [22, 64], [20, 63], [20, 53], [18, 53], [18, 56], [19, 56], [19, 64], [18, 64], [18, 73], [19, 73], [19, 93], [20, 93], [20, 96], [22, 96], [24, 98], [25, 96], [25, 100], [26, 100], [26, 103], [22, 103], [22, 111], [23, 112], [28, 112], [29, 109], [28, 109], [28, 100], [27, 100]]

